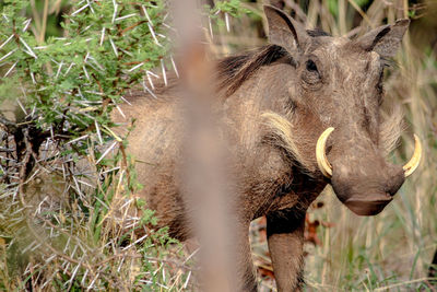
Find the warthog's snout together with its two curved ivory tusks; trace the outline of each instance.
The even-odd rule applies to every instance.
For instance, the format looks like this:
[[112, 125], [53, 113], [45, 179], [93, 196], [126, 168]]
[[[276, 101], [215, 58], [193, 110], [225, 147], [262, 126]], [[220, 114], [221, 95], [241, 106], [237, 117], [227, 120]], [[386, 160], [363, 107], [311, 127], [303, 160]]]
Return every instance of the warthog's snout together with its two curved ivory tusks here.
[[333, 128], [328, 128], [319, 138], [316, 156], [322, 174], [331, 179], [338, 198], [358, 215], [375, 215], [393, 199], [405, 177], [418, 166], [422, 145], [415, 136], [412, 159], [403, 167], [392, 165], [375, 151], [346, 150], [332, 159], [327, 159], [326, 142]]

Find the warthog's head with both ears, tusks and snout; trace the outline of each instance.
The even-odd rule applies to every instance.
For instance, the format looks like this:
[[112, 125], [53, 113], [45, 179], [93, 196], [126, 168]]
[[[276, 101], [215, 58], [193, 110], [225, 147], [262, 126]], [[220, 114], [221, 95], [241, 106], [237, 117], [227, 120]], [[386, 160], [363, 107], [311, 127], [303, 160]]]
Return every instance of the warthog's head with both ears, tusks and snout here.
[[[323, 174], [355, 213], [379, 213], [421, 159], [415, 137], [416, 149], [408, 164], [402, 167], [385, 160], [402, 127], [400, 115], [389, 120], [380, 115], [383, 68], [400, 47], [410, 21], [400, 20], [351, 40], [306, 31], [280, 10], [264, 10], [270, 42], [287, 51], [296, 69], [287, 84], [292, 125], [304, 128], [307, 138], [312, 133], [308, 139], [317, 144], [317, 155], [311, 153], [318, 166], [314, 173]], [[305, 144], [308, 148], [308, 141]]]

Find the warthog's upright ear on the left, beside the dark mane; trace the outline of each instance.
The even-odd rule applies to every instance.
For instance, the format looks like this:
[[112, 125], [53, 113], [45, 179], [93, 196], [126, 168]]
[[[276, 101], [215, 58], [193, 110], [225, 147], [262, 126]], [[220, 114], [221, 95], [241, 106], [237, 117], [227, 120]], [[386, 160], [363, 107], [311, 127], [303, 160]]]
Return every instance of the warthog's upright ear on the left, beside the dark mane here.
[[298, 60], [298, 56], [311, 42], [305, 28], [274, 7], [264, 5], [264, 13], [269, 23], [270, 43], [283, 47]]

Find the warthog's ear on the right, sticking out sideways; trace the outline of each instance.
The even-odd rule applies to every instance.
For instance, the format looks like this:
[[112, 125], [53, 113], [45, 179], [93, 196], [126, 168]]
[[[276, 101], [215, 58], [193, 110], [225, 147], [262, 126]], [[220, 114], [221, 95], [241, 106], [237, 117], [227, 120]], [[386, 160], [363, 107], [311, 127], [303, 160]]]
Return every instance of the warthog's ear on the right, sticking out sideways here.
[[356, 42], [365, 50], [374, 50], [385, 58], [393, 57], [409, 25], [410, 20], [399, 20], [368, 32]]

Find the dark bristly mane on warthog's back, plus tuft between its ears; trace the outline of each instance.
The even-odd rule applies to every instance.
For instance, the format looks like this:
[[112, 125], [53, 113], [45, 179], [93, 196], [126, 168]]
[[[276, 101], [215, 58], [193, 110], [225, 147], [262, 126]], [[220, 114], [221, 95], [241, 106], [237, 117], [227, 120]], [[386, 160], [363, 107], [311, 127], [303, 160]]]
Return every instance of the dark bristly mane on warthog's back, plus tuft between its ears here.
[[[308, 30], [307, 33], [311, 37], [330, 36], [330, 34], [318, 28]], [[287, 58], [287, 62], [296, 66], [292, 56], [284, 48], [276, 45], [268, 45], [241, 55], [226, 57], [217, 63], [217, 90], [223, 90], [225, 97], [227, 97], [262, 66], [271, 65], [282, 58]]]

